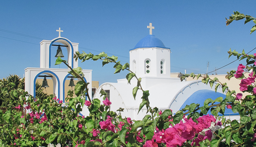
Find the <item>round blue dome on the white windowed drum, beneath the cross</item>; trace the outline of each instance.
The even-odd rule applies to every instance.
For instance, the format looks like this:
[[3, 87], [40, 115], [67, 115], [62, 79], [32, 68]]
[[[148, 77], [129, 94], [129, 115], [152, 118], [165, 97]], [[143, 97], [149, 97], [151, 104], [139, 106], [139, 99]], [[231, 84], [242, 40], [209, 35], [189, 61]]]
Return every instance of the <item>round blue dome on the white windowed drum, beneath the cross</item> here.
[[[170, 49], [164, 46], [164, 43], [154, 35], [148, 35], [142, 38], [133, 49], [146, 48], [146, 47], [160, 47]], [[132, 50], [132, 49], [131, 49]]]

